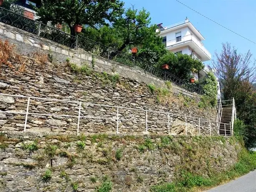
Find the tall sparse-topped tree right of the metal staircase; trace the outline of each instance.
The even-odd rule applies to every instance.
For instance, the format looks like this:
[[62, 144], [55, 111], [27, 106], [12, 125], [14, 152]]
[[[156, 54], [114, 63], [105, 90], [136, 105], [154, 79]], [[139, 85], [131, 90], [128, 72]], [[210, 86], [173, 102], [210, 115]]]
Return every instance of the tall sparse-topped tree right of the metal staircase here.
[[216, 53], [216, 68], [222, 86], [223, 99], [235, 99], [238, 118], [245, 126], [244, 139], [247, 147], [256, 145], [256, 91], [253, 82], [256, 80], [256, 66], [250, 67], [252, 54], [237, 52], [229, 43], [223, 43], [223, 50]]

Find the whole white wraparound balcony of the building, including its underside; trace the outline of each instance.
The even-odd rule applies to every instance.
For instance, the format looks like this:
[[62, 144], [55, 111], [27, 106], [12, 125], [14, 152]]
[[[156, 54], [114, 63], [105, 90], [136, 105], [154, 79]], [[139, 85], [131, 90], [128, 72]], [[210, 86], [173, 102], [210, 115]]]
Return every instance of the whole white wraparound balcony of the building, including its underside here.
[[189, 46], [201, 57], [201, 61], [211, 60], [210, 52], [205, 48], [203, 43], [195, 37], [195, 35], [185, 35], [163, 43], [165, 44], [166, 49], [170, 51], [184, 46]]

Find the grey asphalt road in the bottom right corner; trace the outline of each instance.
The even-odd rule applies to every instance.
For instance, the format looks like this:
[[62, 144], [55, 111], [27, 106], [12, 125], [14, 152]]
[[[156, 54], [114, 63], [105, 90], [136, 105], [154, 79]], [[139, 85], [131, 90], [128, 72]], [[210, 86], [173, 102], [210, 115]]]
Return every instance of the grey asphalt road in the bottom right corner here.
[[208, 192], [256, 192], [256, 170]]

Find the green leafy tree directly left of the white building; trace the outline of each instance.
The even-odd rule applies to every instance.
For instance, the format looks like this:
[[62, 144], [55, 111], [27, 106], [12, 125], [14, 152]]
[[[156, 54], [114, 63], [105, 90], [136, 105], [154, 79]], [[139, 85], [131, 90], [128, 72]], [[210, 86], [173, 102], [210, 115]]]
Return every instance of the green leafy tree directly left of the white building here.
[[[117, 31], [118, 37], [122, 40], [122, 45], [118, 51], [128, 51], [131, 46], [137, 46], [142, 50], [139, 55], [148, 58], [148, 52], [154, 52], [153, 61], [157, 61], [160, 54], [165, 53], [162, 38], [155, 33], [156, 25], [150, 25], [150, 13], [145, 9], [138, 11], [129, 8], [117, 21], [113, 23], [113, 28]], [[112, 53], [112, 57], [117, 52]]]

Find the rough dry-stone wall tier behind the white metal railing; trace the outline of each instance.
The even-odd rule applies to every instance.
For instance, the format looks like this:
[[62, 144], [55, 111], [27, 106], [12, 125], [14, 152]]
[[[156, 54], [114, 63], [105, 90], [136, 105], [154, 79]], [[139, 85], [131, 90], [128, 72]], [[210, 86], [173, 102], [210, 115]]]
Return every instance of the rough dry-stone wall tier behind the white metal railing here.
[[[181, 94], [168, 93], [159, 96], [152, 93], [144, 83], [121, 78], [111, 82], [112, 75], [100, 74], [87, 68], [87, 75], [70, 72], [63, 63], [35, 64], [28, 62], [25, 72], [16, 74], [9, 67], [2, 66], [0, 71], [1, 93], [35, 96], [67, 101], [101, 104], [96, 106], [81, 104], [79, 132], [109, 133], [117, 132], [117, 107], [143, 109], [147, 111], [148, 134], [216, 134], [215, 109], [199, 109], [197, 99]], [[115, 73], [115, 77], [118, 77]], [[0, 96], [0, 110], [5, 112], [26, 112], [28, 98]], [[151, 112], [160, 111], [163, 113]], [[79, 103], [30, 99], [27, 131], [56, 131], [74, 133], [77, 131]], [[170, 113], [168, 125], [168, 113]], [[40, 115], [43, 114], [43, 115]], [[51, 114], [47, 116], [46, 114]], [[63, 117], [59, 115], [69, 115]], [[182, 116], [183, 115], [183, 116]], [[187, 117], [185, 117], [185, 115]], [[199, 122], [199, 119], [200, 122]], [[208, 121], [203, 120], [208, 119]], [[211, 124], [210, 124], [210, 121]], [[0, 130], [23, 131], [25, 115], [0, 113]], [[121, 134], [145, 134], [146, 112], [119, 108], [119, 132]]]

